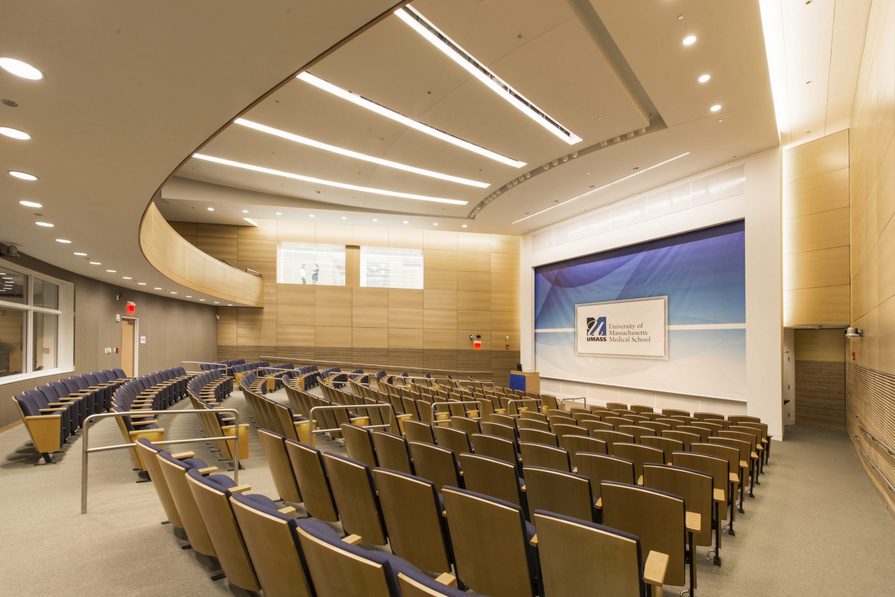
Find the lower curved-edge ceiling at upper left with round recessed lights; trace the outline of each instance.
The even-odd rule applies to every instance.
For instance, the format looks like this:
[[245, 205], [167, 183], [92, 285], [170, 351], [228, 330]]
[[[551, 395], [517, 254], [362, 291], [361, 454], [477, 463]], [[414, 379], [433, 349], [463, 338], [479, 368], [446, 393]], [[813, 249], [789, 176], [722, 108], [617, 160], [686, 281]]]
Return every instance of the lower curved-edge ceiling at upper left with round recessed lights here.
[[[211, 299], [168, 280], [143, 257], [138, 230], [149, 200], [234, 114], [391, 4], [84, 0], [47, 10], [4, 3], [0, 55], [33, 64], [46, 78], [0, 70], [0, 98], [19, 105], [0, 104], [0, 124], [32, 136], [0, 136], [0, 242], [124, 288]], [[24, 208], [20, 200], [43, 207]], [[38, 219], [55, 227], [35, 226]]]

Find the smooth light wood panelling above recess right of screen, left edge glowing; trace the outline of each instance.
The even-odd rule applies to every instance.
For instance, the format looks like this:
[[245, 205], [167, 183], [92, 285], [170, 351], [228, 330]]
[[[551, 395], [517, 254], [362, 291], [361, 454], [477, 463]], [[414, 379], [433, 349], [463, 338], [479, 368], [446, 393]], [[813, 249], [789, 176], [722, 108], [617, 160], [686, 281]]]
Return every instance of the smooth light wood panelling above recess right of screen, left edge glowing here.
[[783, 163], [783, 323], [848, 323], [848, 131]]

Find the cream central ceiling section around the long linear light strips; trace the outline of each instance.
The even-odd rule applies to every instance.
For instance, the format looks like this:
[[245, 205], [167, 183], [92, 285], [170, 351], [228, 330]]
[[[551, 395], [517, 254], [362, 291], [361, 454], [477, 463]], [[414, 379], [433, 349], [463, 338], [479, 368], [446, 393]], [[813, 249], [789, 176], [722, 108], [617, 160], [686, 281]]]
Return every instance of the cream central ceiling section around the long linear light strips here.
[[[392, 15], [309, 72], [424, 124], [523, 160], [526, 166], [483, 158], [294, 80], [243, 118], [490, 187], [377, 166], [234, 124], [201, 153], [467, 203], [396, 199], [192, 158], [178, 173], [180, 179], [263, 194], [241, 202], [248, 196], [231, 192], [222, 199], [223, 213], [221, 207], [209, 212], [202, 209], [201, 201], [209, 200], [207, 193], [199, 192], [203, 187], [179, 184], [164, 192], [162, 213], [170, 219], [237, 223], [245, 215], [277, 218], [279, 211], [278, 217], [285, 219], [313, 215], [322, 222], [348, 217], [379, 226], [388, 226], [392, 217], [406, 217], [410, 226], [432, 226], [437, 220], [442, 229], [460, 230], [465, 224], [479, 232], [522, 234], [568, 217], [573, 208], [551, 210], [524, 226], [512, 224], [526, 212], [631, 174], [632, 168], [645, 169], [690, 152], [674, 164], [575, 201], [574, 209], [593, 209], [778, 142], [757, 4], [722, 3], [710, 11], [695, 3], [645, 0], [417, 0], [413, 8], [584, 141], [569, 146], [545, 131]], [[681, 41], [690, 34], [697, 41], [684, 47]], [[710, 73], [712, 80], [697, 82], [703, 73]], [[717, 113], [709, 110], [714, 104], [722, 106]], [[646, 127], [646, 134], [626, 139], [627, 132]], [[586, 150], [617, 136], [625, 141]], [[543, 164], [578, 149], [583, 150], [580, 156], [541, 172]], [[536, 175], [525, 178], [529, 173]], [[519, 176], [523, 183], [507, 191], [507, 183]], [[468, 217], [498, 190], [500, 196], [474, 220]], [[251, 213], [243, 214], [243, 209]], [[373, 217], [379, 222], [373, 223]]]

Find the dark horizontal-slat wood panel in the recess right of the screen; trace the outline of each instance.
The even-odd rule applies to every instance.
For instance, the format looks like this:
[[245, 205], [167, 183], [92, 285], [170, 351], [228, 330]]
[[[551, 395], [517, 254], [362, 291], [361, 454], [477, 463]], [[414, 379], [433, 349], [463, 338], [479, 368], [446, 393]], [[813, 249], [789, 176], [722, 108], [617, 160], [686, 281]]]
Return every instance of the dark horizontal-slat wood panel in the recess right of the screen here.
[[796, 422], [845, 430], [845, 363], [796, 361]]

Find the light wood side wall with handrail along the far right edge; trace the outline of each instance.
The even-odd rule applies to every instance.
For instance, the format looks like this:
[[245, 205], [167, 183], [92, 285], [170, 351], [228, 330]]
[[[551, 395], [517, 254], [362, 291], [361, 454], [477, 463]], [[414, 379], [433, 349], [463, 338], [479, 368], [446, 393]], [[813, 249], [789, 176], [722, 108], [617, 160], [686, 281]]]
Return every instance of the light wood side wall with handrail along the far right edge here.
[[[851, 117], [851, 322], [864, 337], [847, 353], [848, 435], [895, 484], [895, 1], [874, 0]], [[895, 491], [858, 458], [889, 506]]]

